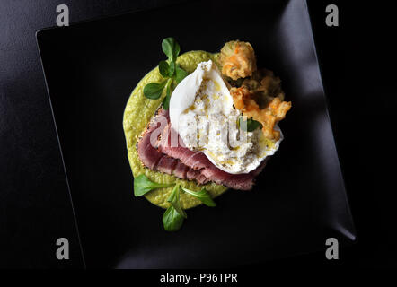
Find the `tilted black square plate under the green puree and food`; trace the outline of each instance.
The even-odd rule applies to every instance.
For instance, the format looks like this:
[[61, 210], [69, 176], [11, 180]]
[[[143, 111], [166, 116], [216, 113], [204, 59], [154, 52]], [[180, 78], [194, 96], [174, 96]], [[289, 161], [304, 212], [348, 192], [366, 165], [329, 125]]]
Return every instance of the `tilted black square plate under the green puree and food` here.
[[[190, 210], [174, 233], [162, 209], [133, 196], [122, 129], [129, 94], [164, 58], [168, 36], [182, 52], [250, 41], [293, 102], [286, 139], [254, 189]], [[305, 1], [194, 2], [37, 39], [88, 267], [235, 266], [355, 240]]]

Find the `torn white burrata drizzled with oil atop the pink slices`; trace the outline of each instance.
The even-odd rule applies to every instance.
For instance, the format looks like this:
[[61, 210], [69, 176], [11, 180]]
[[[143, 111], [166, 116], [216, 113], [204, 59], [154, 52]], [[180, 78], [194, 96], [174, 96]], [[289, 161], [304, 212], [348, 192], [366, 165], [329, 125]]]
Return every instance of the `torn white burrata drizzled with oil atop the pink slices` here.
[[[241, 112], [218, 68], [201, 62], [172, 92], [170, 120], [185, 146], [202, 151], [220, 170], [240, 174], [255, 170], [278, 150], [278, 142], [266, 139], [261, 130], [243, 131], [237, 126]], [[278, 127], [277, 127], [278, 128]], [[172, 141], [172, 143], [177, 141]]]

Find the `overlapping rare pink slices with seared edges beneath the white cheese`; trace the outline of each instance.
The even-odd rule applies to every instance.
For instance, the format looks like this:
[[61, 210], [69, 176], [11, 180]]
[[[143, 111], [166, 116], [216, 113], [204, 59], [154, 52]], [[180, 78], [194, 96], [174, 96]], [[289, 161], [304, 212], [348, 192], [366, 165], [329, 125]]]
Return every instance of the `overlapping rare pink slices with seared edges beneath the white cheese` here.
[[175, 131], [168, 111], [159, 109], [137, 143], [139, 158], [147, 168], [181, 179], [196, 180], [199, 184], [213, 181], [233, 189], [250, 190], [254, 178], [266, 165], [263, 161], [260, 167], [246, 174], [227, 173], [218, 169], [203, 152], [193, 152], [184, 147], [179, 136], [179, 144], [173, 146], [176, 144], [171, 144], [172, 133]]

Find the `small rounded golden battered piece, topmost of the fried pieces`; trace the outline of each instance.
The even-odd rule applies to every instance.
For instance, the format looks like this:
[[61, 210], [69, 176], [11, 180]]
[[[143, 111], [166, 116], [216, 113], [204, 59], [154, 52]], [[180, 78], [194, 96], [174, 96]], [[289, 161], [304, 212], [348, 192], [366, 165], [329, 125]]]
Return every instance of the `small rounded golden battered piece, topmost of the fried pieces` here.
[[250, 43], [230, 41], [221, 49], [222, 74], [237, 80], [251, 76], [256, 71], [256, 58]]

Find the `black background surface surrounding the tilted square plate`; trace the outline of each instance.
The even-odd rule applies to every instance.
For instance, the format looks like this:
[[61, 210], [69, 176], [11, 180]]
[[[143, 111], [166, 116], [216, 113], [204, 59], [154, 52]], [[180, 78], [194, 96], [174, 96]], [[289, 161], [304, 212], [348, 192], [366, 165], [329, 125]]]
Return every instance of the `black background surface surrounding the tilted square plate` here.
[[[61, 4], [73, 23], [177, 2]], [[54, 26], [57, 4], [0, 2], [0, 267], [83, 267], [34, 37]], [[340, 27], [325, 25], [326, 4], [338, 4]], [[341, 1], [309, 1], [309, 10], [358, 241], [338, 262], [319, 253], [255, 266], [395, 267], [393, 10]], [[59, 237], [69, 239], [73, 260], [55, 257]]]

